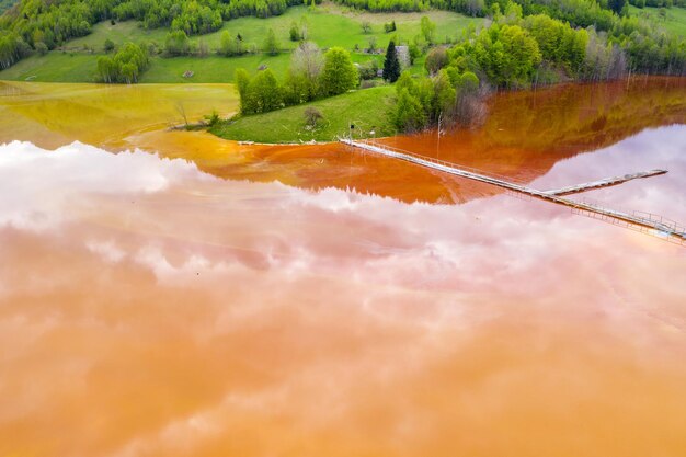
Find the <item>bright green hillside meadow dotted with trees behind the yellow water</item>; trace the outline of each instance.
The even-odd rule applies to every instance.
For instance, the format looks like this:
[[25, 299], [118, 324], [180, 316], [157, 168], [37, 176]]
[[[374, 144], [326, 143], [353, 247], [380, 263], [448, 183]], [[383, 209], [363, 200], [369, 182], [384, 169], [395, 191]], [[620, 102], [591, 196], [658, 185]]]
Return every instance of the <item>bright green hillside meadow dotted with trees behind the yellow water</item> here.
[[[411, 39], [420, 32], [420, 19], [428, 15], [436, 23], [436, 36], [458, 36], [469, 25], [479, 25], [482, 19], [467, 18], [447, 11], [428, 11], [425, 13], [392, 13], [374, 14], [353, 12], [333, 4], [323, 4], [315, 9], [306, 7], [290, 8], [281, 16], [258, 19], [240, 18], [225, 22], [222, 30], [231, 34], [240, 33], [248, 46], [262, 46], [263, 37], [268, 28], [276, 32], [284, 52], [277, 56], [266, 56], [260, 53], [242, 57], [225, 58], [214, 52], [219, 46], [221, 31], [208, 35], [195, 36], [195, 43], [204, 41], [213, 52], [208, 57], [153, 57], [150, 68], [144, 73], [140, 82], [232, 82], [237, 68], [245, 68], [254, 72], [261, 65], [272, 68], [282, 76], [288, 68], [289, 52], [296, 43], [288, 39], [291, 22], [302, 23], [305, 18], [308, 24], [309, 39], [321, 47], [343, 46], [353, 49], [355, 45], [362, 48], [368, 46], [370, 37], [375, 37], [376, 46], [384, 48], [388, 45], [391, 34], [384, 33], [384, 23], [396, 21], [396, 34], [401, 39]], [[365, 35], [361, 23], [368, 21], [373, 33]], [[168, 30], [146, 31], [137, 22], [127, 21], [112, 25], [108, 21], [101, 22], [93, 27], [93, 33], [68, 43], [65, 50], [52, 50], [45, 56], [33, 56], [21, 60], [7, 70], [0, 71], [0, 79], [32, 80], [49, 82], [93, 82], [95, 80], [95, 61], [103, 55], [103, 44], [110, 38], [117, 45], [133, 41], [137, 43], [157, 42], [163, 45]], [[91, 50], [85, 50], [90, 48]], [[93, 52], [94, 50], [94, 52]], [[362, 62], [369, 59], [380, 60], [381, 56], [353, 54], [353, 60]], [[194, 72], [192, 78], [183, 78], [186, 70]], [[421, 70], [419, 62], [413, 71]]]

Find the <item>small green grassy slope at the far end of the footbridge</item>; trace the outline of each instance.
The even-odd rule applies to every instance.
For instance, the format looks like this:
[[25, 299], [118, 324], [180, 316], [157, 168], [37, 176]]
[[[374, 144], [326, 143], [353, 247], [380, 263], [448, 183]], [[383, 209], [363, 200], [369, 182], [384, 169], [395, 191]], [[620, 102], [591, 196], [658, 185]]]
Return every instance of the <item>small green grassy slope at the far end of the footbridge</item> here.
[[[390, 119], [395, 93], [390, 85], [359, 90], [266, 114], [244, 116], [235, 122], [222, 122], [210, 132], [239, 141], [331, 141], [339, 135], [347, 135], [350, 123], [353, 123], [357, 128], [356, 136], [388, 136], [395, 134]], [[316, 107], [323, 115], [313, 129], [309, 129], [305, 122], [308, 106]], [[270, 128], [264, 128], [265, 125]]]

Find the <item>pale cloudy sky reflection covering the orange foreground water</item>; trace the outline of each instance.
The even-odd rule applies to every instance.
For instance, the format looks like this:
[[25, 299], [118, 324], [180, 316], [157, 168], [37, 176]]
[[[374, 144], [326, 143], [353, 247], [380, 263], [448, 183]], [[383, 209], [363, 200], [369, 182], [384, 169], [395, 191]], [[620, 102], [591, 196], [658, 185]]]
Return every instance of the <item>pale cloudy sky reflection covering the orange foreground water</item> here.
[[[593, 173], [642, 167], [658, 134], [682, 163], [664, 129]], [[80, 144], [0, 157], [0, 455], [686, 445], [683, 248], [506, 195], [405, 204]]]

